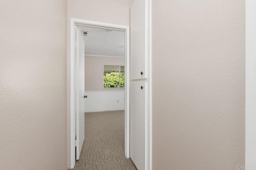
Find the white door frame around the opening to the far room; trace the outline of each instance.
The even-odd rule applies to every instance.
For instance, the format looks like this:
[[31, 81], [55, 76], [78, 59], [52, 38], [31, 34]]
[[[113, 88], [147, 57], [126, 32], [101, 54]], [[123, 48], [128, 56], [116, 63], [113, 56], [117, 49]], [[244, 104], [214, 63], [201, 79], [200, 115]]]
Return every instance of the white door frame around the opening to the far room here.
[[125, 156], [130, 158], [130, 27], [70, 18], [70, 168], [75, 166], [74, 59], [76, 26], [115, 29], [125, 33]]

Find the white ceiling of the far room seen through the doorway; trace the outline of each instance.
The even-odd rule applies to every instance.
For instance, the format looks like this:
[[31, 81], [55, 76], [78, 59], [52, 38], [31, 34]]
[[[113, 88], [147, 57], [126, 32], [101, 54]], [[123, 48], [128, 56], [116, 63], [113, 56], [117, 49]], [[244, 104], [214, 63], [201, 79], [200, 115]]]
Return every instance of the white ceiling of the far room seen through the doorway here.
[[84, 38], [85, 54], [95, 56], [124, 57], [124, 31], [80, 27], [82, 31], [88, 31]]

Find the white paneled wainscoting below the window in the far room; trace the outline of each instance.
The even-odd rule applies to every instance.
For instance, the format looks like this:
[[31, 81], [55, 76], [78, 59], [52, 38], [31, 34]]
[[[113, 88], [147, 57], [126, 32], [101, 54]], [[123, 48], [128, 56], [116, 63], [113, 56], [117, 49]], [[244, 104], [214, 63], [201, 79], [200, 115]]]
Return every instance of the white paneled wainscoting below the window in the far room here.
[[[84, 92], [85, 112], [124, 110], [124, 91]], [[118, 100], [118, 102], [117, 102]]]

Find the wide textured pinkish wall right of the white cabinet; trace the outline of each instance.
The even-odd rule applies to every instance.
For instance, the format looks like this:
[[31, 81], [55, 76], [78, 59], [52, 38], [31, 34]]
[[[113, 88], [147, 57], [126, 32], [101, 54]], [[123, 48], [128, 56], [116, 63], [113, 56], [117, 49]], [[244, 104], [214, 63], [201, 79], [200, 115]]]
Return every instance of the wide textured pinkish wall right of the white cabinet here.
[[235, 170], [245, 152], [242, 0], [152, 2], [153, 170]]

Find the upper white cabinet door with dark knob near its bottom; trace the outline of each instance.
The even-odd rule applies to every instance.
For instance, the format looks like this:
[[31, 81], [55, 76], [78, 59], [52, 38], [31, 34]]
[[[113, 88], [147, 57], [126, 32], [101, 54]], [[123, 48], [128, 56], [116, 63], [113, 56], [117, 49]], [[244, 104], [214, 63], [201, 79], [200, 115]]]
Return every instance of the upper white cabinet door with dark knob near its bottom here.
[[131, 80], [147, 78], [148, 16], [148, 0], [134, 0], [130, 19]]

